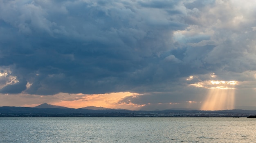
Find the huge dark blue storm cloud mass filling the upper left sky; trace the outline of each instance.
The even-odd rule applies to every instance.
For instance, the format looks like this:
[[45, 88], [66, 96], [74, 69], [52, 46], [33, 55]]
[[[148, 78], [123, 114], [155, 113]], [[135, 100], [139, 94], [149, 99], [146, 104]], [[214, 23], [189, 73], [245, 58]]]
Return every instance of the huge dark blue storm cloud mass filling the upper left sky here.
[[173, 48], [171, 32], [186, 25], [165, 12], [177, 4], [4, 1], [1, 30], [10, 36], [2, 39], [0, 64], [32, 84], [31, 94], [128, 91], [160, 82], [166, 74], [157, 66], [160, 56]]

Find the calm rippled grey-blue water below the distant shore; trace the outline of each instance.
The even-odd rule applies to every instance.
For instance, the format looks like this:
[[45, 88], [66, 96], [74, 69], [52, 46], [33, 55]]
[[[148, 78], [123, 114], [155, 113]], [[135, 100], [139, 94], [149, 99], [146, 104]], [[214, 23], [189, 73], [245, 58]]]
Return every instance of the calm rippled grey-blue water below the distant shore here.
[[0, 143], [254, 143], [256, 119], [0, 117]]

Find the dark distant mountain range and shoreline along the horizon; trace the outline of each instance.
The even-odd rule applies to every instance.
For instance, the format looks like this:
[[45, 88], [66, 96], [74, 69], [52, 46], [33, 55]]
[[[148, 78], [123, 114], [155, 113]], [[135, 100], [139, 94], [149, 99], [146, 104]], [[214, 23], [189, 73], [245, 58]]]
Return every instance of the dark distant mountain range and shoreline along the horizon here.
[[249, 117], [256, 115], [250, 110], [164, 110], [130, 111], [103, 107], [67, 108], [47, 103], [36, 107], [0, 107], [0, 117]]

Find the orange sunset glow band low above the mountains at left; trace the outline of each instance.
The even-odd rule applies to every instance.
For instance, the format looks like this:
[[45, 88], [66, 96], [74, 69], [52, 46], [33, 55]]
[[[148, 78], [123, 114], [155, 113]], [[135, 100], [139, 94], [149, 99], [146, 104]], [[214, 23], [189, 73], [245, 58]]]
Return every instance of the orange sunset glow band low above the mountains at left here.
[[[55, 95], [29, 95], [29, 94], [0, 94], [1, 106], [22, 106], [35, 107], [43, 103], [64, 106], [68, 108], [83, 108], [87, 106], [122, 108], [128, 110], [138, 110], [145, 104], [134, 104], [119, 102], [126, 97], [137, 97], [141, 94], [131, 92], [118, 92], [106, 94], [69, 94], [58, 93]], [[10, 104], [11, 103], [11, 104]]]

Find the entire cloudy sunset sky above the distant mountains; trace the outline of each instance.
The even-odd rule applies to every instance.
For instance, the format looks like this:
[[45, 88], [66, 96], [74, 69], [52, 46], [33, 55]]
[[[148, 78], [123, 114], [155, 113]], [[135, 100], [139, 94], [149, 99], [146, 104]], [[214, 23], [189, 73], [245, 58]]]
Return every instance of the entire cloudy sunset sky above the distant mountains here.
[[253, 0], [0, 0], [0, 106], [256, 110]]

